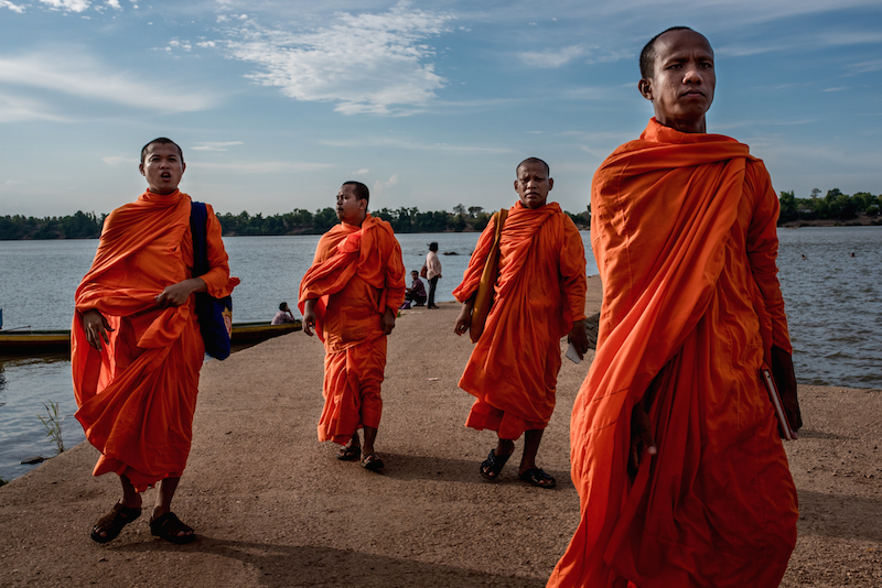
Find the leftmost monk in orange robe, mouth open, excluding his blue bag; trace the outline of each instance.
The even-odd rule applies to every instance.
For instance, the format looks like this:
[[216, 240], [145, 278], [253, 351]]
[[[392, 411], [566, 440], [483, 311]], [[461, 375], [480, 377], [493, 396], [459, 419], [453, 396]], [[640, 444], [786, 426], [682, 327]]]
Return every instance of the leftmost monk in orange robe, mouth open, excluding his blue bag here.
[[209, 271], [193, 276], [191, 199], [178, 189], [181, 148], [160, 138], [141, 151], [148, 189], [107, 217], [92, 269], [76, 291], [71, 338], [76, 418], [101, 456], [95, 476], [115, 472], [122, 499], [92, 530], [106, 543], [141, 514], [141, 496], [159, 482], [150, 529], [172, 543], [195, 538], [171, 511], [186, 466], [204, 344], [196, 292], [228, 295], [220, 224], [206, 226]]

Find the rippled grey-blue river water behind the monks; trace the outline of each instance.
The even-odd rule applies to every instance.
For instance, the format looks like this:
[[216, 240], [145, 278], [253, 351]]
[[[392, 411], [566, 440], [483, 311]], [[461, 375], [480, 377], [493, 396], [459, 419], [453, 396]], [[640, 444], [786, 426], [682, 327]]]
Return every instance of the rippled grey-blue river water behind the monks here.
[[[781, 229], [778, 237], [779, 277], [799, 382], [882, 388], [882, 227]], [[243, 280], [234, 293], [234, 320], [269, 320], [282, 301], [294, 308], [318, 240], [225, 239], [233, 274]], [[430, 241], [438, 241], [442, 253], [455, 253], [440, 258], [443, 277], [437, 293], [439, 302], [452, 301], [477, 233], [399, 235], [398, 240], [408, 271], [422, 266]], [[588, 232], [582, 240], [590, 251]], [[96, 247], [97, 240], [0, 241], [3, 328], [69, 328], [73, 294]], [[590, 254], [587, 273], [598, 273]], [[20, 465], [23, 458], [54, 454], [36, 418], [37, 413], [45, 415], [43, 403], [49, 402], [57, 402], [64, 415], [76, 411], [66, 358], [0, 356], [0, 478], [9, 480], [33, 467]], [[63, 423], [63, 438], [68, 447], [84, 438], [73, 416]]]

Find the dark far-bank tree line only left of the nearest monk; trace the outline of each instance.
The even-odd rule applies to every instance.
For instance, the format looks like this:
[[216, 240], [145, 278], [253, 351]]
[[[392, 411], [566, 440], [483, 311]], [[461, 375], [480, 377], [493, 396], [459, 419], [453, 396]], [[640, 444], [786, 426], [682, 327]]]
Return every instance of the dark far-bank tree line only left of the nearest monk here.
[[[396, 232], [444, 232], [444, 231], [480, 231], [490, 222], [491, 213], [481, 206], [466, 208], [462, 204], [453, 207], [452, 213], [431, 210], [422, 213], [412, 208], [381, 208], [372, 215], [387, 220]], [[589, 213], [570, 215], [580, 228], [587, 228]], [[21, 215], [0, 217], [0, 240], [14, 239], [97, 239], [107, 215], [83, 213], [65, 217], [23, 217]], [[273, 236], [273, 235], [322, 235], [337, 224], [333, 208], [321, 208], [315, 213], [294, 208], [290, 213], [263, 216], [249, 215], [241, 211], [217, 214], [224, 236]]]

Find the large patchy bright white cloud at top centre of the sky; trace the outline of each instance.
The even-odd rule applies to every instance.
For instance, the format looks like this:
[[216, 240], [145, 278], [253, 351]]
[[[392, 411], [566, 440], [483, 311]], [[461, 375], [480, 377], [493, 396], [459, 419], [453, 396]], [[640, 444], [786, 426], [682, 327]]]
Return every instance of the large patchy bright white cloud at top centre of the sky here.
[[338, 13], [310, 32], [249, 24], [230, 32], [229, 55], [256, 64], [250, 77], [295, 100], [333, 101], [346, 115], [402, 113], [426, 105], [445, 79], [424, 40], [449, 32], [452, 17], [401, 1], [379, 14]]

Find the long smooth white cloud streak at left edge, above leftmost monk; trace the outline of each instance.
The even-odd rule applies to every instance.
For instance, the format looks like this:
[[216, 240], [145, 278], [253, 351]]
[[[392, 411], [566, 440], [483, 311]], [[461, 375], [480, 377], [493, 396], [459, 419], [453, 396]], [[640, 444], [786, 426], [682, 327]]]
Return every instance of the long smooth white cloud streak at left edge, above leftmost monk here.
[[142, 73], [115, 72], [88, 55], [73, 52], [41, 53], [21, 57], [0, 57], [0, 84], [36, 87], [89, 100], [119, 104], [159, 112], [206, 110], [216, 101], [209, 92], [170, 87]]

